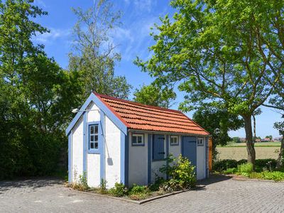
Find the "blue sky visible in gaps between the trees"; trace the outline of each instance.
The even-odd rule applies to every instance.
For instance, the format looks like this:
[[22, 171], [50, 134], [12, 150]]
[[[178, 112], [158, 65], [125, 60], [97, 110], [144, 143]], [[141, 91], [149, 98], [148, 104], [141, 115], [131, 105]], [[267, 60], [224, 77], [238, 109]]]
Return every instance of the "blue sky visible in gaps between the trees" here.
[[[71, 8], [81, 7], [87, 9], [93, 0], [35, 0], [35, 4], [48, 11], [48, 16], [37, 18], [37, 22], [50, 29], [50, 33], [39, 35], [35, 40], [45, 45], [49, 57], [55, 58], [62, 68], [67, 68], [68, 53], [72, 52], [72, 27], [77, 21]], [[153, 45], [149, 35], [154, 23], [159, 23], [159, 17], [173, 13], [169, 6], [170, 1], [158, 0], [116, 0], [114, 8], [123, 13], [122, 26], [112, 33], [111, 40], [118, 45], [117, 51], [121, 53], [121, 62], [116, 64], [116, 75], [124, 75], [133, 88], [152, 82], [147, 73], [133, 65], [136, 56], [147, 59], [150, 57], [148, 47]], [[172, 107], [178, 109], [183, 95], [176, 91], [178, 98]], [[271, 109], [262, 109], [263, 113], [256, 117], [256, 133], [258, 136], [279, 136], [273, 129], [273, 123], [280, 121], [280, 115]], [[192, 117], [192, 112], [187, 114]], [[230, 132], [230, 136], [244, 137], [244, 129]]]

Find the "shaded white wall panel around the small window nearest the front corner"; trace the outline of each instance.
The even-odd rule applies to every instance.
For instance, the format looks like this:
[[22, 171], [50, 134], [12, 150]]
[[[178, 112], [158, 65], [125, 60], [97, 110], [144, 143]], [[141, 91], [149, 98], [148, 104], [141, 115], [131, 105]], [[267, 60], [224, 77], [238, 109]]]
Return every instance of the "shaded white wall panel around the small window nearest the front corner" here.
[[132, 146], [129, 133], [129, 186], [148, 184], [148, 133], [144, 135], [144, 146]]

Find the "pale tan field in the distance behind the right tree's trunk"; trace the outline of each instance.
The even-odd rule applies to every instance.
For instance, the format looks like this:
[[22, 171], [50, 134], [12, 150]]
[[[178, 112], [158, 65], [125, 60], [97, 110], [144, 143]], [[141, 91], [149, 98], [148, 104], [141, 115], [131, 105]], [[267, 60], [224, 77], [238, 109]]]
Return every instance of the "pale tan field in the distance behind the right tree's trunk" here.
[[[256, 159], [278, 158], [280, 142], [256, 143]], [[246, 143], [231, 143], [228, 146], [217, 147], [219, 158], [241, 160], [248, 157]]]

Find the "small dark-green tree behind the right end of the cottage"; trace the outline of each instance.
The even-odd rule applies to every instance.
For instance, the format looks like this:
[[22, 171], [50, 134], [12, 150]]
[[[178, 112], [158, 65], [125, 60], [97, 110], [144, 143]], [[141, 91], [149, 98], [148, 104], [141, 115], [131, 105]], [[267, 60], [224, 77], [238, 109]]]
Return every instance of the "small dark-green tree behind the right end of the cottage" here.
[[240, 129], [244, 126], [244, 120], [239, 116], [229, 113], [226, 109], [220, 110], [204, 104], [195, 111], [192, 119], [200, 124], [212, 135], [213, 158], [217, 158], [216, 146], [226, 146], [231, 141], [229, 131]]

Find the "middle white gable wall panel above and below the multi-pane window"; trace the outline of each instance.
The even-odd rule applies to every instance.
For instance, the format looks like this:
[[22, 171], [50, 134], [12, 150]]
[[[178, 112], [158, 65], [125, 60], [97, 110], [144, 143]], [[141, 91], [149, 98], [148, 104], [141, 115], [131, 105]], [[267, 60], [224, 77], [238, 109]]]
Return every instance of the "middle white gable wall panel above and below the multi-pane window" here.
[[[91, 102], [87, 107], [87, 123], [100, 121], [99, 108]], [[86, 125], [86, 135], [88, 126]], [[87, 137], [87, 136], [86, 136]], [[87, 183], [89, 187], [98, 187], [100, 184], [100, 158], [101, 155], [97, 153], [88, 153], [88, 138], [86, 138], [86, 151], [87, 153]]]

